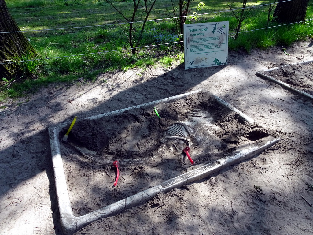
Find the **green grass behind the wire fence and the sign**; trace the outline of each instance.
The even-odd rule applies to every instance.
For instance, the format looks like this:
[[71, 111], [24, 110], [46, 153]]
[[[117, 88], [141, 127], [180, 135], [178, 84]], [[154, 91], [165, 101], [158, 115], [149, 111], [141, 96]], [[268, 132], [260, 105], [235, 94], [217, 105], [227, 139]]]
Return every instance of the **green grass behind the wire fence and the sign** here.
[[[264, 1], [254, 1], [256, 6]], [[55, 29], [95, 25], [89, 28], [61, 29], [25, 32], [30, 43], [38, 52], [39, 58], [63, 57], [109, 51], [100, 54], [81, 55], [57, 59], [41, 60], [36, 64], [36, 79], [12, 82], [0, 93], [0, 100], [7, 97], [19, 97], [36, 91], [52, 82], [73, 82], [78, 77], [95, 80], [98, 74], [106, 71], [128, 70], [134, 67], [146, 67], [160, 63], [164, 67], [174, 62], [183, 62], [183, 53], [178, 44], [154, 46], [138, 49], [132, 55], [128, 49], [127, 25], [116, 25], [125, 22], [120, 14], [102, 0], [6, 0], [10, 13], [22, 30]], [[199, 13], [212, 13], [228, 10], [228, 1], [204, 0], [205, 6]], [[266, 3], [266, 2], [265, 2]], [[307, 18], [313, 18], [313, 0], [310, 0]], [[131, 14], [132, 1], [116, 1], [120, 9], [128, 9]], [[198, 2], [192, 3], [194, 8]], [[236, 8], [242, 5], [241, 0], [234, 3]], [[252, 5], [252, 3], [250, 4]], [[171, 1], [157, 1], [150, 19], [168, 18], [171, 13]], [[193, 10], [191, 10], [193, 11]], [[143, 20], [141, 13], [136, 20]], [[261, 6], [253, 9], [242, 25], [241, 31], [275, 26], [267, 21], [268, 8]], [[231, 12], [220, 12], [198, 15], [197, 21], [186, 23], [229, 21], [229, 33], [236, 28], [236, 20]], [[104, 24], [115, 24], [97, 26]], [[134, 24], [135, 33], [142, 23]], [[229, 50], [244, 49], [248, 53], [254, 48], [267, 49], [280, 45], [288, 47], [297, 40], [313, 37], [313, 21], [307, 24], [293, 24], [247, 33], [240, 33], [237, 40], [229, 36]], [[140, 46], [157, 45], [178, 40], [175, 25], [171, 19], [150, 21], [146, 24]], [[118, 51], [115, 51], [118, 50]], [[27, 65], [28, 66], [28, 65]], [[19, 81], [19, 80], [18, 80]]]

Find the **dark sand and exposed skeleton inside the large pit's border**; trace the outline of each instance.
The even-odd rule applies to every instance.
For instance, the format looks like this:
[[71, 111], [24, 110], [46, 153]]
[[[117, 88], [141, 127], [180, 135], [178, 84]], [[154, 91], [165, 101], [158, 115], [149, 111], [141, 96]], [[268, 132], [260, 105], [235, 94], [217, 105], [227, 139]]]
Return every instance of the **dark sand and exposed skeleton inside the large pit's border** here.
[[[239, 146], [277, 136], [275, 130], [245, 122], [205, 91], [159, 103], [162, 118], [153, 106], [75, 123], [68, 143], [61, 144], [61, 154], [76, 216], [220, 159]], [[60, 139], [63, 136], [60, 133]], [[193, 167], [183, 153], [187, 146], [196, 162]], [[121, 179], [112, 188], [115, 160], [120, 163]]]

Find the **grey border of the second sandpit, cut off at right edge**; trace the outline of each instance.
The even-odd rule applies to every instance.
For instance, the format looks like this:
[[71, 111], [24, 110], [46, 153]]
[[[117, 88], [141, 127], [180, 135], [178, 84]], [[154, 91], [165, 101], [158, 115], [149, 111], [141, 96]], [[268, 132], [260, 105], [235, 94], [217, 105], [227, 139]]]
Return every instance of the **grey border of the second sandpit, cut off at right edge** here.
[[287, 90], [290, 90], [290, 91], [293, 91], [301, 96], [304, 96], [304, 97], [307, 97], [307, 98], [310, 98], [311, 100], [313, 100], [313, 96], [310, 95], [309, 93], [306, 93], [304, 91], [300, 91], [292, 86], [290, 86], [288, 83], [285, 83], [285, 82], [282, 82], [280, 80], [277, 80], [275, 79], [274, 77], [272, 76], [268, 76], [266, 74], [263, 74], [264, 72], [271, 72], [273, 70], [279, 70], [280, 68], [283, 68], [283, 67], [288, 67], [288, 66], [291, 66], [291, 65], [307, 65], [307, 64], [310, 64], [312, 63], [313, 60], [305, 60], [305, 61], [301, 61], [301, 62], [297, 62], [297, 63], [293, 63], [293, 64], [289, 64], [289, 65], [282, 65], [282, 66], [278, 66], [278, 67], [274, 67], [274, 68], [270, 68], [268, 70], [263, 70], [263, 71], [257, 71], [255, 73], [255, 75], [257, 76], [260, 76], [262, 78], [265, 78], [265, 79], [268, 79], [270, 81], [273, 81], [277, 84], [279, 84], [280, 86], [283, 86], [284, 88], [286, 88]]

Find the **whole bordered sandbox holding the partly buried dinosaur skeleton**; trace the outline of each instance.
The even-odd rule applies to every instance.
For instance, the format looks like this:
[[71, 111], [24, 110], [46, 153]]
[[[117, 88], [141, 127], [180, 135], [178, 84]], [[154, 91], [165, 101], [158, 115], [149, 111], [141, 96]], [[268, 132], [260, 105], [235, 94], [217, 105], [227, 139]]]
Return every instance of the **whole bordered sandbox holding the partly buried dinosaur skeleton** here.
[[[63, 143], [69, 125], [49, 128], [65, 234], [206, 178], [279, 141], [275, 130], [204, 90], [78, 119]], [[183, 151], [187, 146], [194, 165]], [[116, 160], [120, 178], [113, 186]]]

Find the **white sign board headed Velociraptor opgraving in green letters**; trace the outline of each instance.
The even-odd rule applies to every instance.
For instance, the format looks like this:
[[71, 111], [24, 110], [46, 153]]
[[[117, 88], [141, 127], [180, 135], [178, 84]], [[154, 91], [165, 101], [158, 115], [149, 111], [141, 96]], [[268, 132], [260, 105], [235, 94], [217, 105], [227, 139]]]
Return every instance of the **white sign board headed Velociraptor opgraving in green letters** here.
[[184, 24], [185, 69], [227, 64], [228, 21]]

